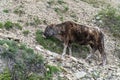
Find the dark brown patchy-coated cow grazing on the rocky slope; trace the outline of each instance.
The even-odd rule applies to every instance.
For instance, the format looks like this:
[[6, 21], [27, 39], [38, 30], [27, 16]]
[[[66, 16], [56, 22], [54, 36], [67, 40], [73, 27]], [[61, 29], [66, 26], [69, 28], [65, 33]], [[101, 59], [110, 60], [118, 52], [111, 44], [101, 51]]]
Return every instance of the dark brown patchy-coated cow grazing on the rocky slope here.
[[46, 27], [44, 37], [55, 37], [63, 42], [64, 49], [62, 57], [66, 54], [67, 48], [72, 55], [71, 44], [89, 45], [90, 54], [86, 57], [89, 59], [98, 50], [102, 57], [102, 65], [106, 64], [106, 53], [104, 51], [104, 34], [99, 28], [80, 25], [72, 21], [65, 21], [60, 24], [50, 24]]

